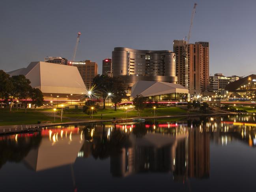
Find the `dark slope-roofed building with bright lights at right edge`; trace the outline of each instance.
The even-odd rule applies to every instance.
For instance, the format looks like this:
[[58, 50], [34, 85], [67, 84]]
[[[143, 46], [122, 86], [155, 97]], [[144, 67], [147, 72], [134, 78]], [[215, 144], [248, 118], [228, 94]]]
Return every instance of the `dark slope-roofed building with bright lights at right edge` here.
[[230, 97], [244, 97], [254, 100], [256, 96], [256, 75], [252, 74], [237, 81], [231, 82], [225, 88]]

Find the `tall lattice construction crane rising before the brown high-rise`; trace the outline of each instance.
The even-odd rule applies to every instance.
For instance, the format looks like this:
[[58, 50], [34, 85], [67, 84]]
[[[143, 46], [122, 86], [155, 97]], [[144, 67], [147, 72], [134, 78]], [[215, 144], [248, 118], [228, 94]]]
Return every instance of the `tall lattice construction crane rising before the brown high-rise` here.
[[185, 88], [186, 89], [189, 88], [189, 54], [188, 54], [189, 39], [191, 35], [194, 14], [196, 13], [196, 6], [197, 4], [195, 3], [192, 11], [191, 20], [190, 20], [189, 35], [187, 36], [187, 42], [186, 42], [186, 39], [183, 40], [183, 56], [185, 58]]

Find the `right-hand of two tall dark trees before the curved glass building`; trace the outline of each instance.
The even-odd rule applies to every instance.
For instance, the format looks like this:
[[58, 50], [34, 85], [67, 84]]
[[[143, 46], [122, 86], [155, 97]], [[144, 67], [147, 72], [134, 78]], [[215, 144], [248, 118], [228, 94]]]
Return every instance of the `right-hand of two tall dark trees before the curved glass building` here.
[[112, 102], [115, 104], [115, 111], [116, 111], [116, 106], [118, 103], [120, 103], [125, 97], [125, 91], [124, 91], [124, 85], [123, 82], [118, 78], [118, 77], [113, 77], [111, 78], [112, 80]]

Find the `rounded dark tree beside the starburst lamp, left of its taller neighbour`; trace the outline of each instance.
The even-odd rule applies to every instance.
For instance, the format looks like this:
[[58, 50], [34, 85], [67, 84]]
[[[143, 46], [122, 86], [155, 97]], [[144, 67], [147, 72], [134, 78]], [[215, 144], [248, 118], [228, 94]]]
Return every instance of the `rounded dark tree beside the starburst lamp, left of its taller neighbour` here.
[[97, 75], [93, 79], [93, 82], [96, 86], [95, 91], [103, 98], [103, 109], [105, 109], [105, 101], [108, 97], [108, 93], [110, 93], [110, 90], [112, 89], [111, 77], [106, 75]]

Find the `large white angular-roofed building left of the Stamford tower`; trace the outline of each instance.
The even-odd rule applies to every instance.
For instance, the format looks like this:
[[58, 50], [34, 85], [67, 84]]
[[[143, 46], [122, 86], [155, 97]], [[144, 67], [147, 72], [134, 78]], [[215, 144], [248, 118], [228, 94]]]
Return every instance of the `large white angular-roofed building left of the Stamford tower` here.
[[31, 62], [27, 68], [17, 69], [8, 73], [25, 75], [33, 88], [43, 93], [82, 94], [86, 86], [77, 67], [46, 62]]

